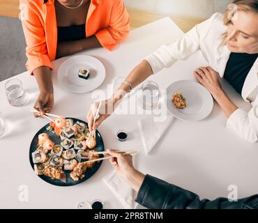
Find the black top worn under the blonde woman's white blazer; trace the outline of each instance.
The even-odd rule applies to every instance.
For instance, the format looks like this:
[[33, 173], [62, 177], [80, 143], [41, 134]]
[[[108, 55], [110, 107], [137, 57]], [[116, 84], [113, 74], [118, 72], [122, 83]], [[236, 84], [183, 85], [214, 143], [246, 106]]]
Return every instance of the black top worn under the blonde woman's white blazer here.
[[254, 65], [258, 54], [231, 53], [224, 78], [227, 79], [238, 93], [242, 93], [243, 84]]

